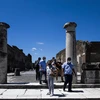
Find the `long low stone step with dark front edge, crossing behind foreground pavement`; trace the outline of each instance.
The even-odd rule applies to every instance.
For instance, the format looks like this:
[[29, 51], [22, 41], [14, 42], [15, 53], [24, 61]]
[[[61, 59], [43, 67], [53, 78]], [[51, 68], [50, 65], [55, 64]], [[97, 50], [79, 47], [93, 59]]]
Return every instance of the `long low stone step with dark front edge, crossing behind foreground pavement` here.
[[[64, 83], [54, 83], [54, 88], [63, 88]], [[27, 84], [0, 84], [0, 88], [7, 89], [45, 89], [47, 84], [27, 83]], [[100, 84], [72, 84], [72, 88], [100, 88]]]

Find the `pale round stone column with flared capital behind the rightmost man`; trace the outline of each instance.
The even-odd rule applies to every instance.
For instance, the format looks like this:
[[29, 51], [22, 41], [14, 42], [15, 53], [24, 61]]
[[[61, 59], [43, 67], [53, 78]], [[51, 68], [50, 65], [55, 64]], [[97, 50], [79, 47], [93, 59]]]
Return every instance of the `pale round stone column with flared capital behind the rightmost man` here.
[[[75, 65], [75, 70], [77, 66], [76, 57], [76, 28], [77, 24], [75, 22], [65, 23], [64, 28], [66, 29], [66, 61], [68, 57], [71, 57], [72, 63]], [[76, 83], [76, 78], [73, 78], [73, 82]]]

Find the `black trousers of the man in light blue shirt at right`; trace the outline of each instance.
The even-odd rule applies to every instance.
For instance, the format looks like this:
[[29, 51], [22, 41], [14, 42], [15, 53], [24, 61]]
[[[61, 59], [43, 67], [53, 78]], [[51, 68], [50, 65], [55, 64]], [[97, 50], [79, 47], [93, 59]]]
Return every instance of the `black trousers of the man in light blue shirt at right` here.
[[64, 75], [64, 77], [65, 77], [65, 82], [64, 82], [63, 89], [65, 90], [66, 85], [69, 84], [68, 85], [68, 91], [71, 91], [71, 88], [72, 88], [72, 75], [66, 74], [66, 75]]

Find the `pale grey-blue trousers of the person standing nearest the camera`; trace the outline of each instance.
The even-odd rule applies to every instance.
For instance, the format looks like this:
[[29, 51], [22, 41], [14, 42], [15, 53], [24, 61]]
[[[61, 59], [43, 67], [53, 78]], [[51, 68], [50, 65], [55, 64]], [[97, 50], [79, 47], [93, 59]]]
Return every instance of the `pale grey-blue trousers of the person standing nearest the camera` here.
[[48, 88], [49, 88], [49, 93], [54, 94], [54, 77], [53, 76], [48, 76]]

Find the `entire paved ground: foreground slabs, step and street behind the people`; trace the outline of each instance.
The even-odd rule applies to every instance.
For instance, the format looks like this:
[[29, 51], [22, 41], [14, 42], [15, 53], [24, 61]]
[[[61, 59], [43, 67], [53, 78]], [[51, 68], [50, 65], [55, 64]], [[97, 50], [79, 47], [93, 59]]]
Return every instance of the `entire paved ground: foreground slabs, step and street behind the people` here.
[[[60, 78], [59, 78], [60, 81]], [[35, 80], [35, 71], [21, 72], [21, 76], [9, 73], [8, 84], [0, 84], [0, 99], [3, 100], [36, 100], [36, 99], [71, 99], [100, 100], [100, 84], [73, 84], [73, 92], [63, 91], [63, 82], [55, 80], [55, 95], [50, 97], [47, 85], [40, 85]], [[67, 89], [66, 89], [67, 90]]]

